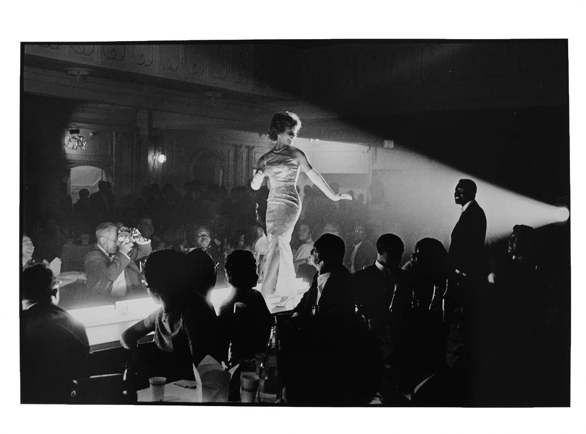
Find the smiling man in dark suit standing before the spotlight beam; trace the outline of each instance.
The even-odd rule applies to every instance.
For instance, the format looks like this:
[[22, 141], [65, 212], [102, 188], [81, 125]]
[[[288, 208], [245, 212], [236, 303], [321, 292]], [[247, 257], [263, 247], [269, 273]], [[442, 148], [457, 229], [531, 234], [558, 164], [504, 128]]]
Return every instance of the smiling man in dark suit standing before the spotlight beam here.
[[462, 214], [452, 231], [448, 252], [455, 270], [474, 277], [484, 271], [486, 237], [486, 216], [475, 197], [476, 184], [470, 179], [461, 179], [456, 185], [454, 199], [462, 206]]

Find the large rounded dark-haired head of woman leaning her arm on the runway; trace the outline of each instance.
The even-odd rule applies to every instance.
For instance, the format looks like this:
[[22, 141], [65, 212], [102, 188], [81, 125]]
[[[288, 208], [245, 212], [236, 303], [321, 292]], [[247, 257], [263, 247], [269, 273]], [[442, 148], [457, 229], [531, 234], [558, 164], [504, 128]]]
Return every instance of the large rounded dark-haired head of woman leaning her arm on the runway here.
[[152, 252], [145, 264], [149, 289], [166, 299], [177, 296], [185, 288], [187, 259], [184, 254], [167, 249]]

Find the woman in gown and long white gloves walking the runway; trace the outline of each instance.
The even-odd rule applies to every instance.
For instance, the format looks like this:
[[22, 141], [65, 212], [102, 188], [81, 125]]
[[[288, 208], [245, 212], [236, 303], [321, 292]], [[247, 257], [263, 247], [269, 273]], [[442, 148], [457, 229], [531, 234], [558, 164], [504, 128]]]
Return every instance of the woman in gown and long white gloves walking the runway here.
[[301, 213], [301, 200], [296, 189], [299, 169], [303, 169], [329, 199], [352, 199], [349, 194], [334, 193], [309, 164], [305, 153], [291, 146], [299, 128], [301, 120], [295, 113], [279, 112], [272, 117], [268, 136], [275, 146], [258, 160], [257, 173], [250, 183], [254, 190], [260, 188], [265, 176], [268, 176], [271, 183], [266, 214], [269, 247], [265, 255], [261, 293], [265, 298], [281, 296], [282, 305], [288, 298], [297, 295], [293, 254], [289, 242]]

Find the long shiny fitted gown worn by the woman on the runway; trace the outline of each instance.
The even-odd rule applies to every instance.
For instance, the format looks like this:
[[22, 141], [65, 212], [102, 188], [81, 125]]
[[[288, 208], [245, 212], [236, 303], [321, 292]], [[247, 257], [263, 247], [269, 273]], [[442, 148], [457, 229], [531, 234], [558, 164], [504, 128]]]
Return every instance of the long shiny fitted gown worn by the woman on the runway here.
[[[270, 151], [264, 156], [264, 172], [271, 183], [267, 199], [267, 236], [269, 247], [265, 255], [261, 288], [263, 296], [294, 296], [295, 268], [291, 252], [291, 235], [299, 214], [301, 200], [295, 186], [299, 163], [294, 158]], [[273, 260], [275, 255], [277, 258]]]

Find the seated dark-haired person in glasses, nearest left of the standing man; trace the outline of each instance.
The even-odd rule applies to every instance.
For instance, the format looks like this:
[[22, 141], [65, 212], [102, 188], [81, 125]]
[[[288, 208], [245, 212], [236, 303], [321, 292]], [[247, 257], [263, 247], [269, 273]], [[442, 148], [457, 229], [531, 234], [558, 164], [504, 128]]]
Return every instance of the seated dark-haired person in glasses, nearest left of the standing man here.
[[407, 264], [410, 265], [403, 266], [403, 269], [411, 276], [417, 304], [427, 309], [434, 294], [434, 285], [439, 286], [441, 295], [445, 292], [450, 273], [448, 253], [440, 241], [423, 238], [415, 244], [415, 252]]

